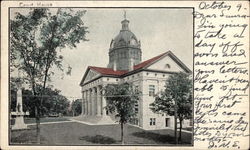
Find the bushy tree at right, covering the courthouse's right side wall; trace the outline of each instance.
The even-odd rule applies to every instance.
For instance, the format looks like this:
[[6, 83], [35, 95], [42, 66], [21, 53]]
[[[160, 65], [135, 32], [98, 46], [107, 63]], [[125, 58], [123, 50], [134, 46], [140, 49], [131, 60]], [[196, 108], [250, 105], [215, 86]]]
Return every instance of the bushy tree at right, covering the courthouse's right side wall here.
[[[192, 79], [186, 73], [170, 75], [165, 90], [156, 96], [150, 108], [155, 113], [175, 116], [175, 141], [181, 142], [182, 122], [192, 117]], [[177, 139], [177, 119], [179, 119], [179, 139]]]

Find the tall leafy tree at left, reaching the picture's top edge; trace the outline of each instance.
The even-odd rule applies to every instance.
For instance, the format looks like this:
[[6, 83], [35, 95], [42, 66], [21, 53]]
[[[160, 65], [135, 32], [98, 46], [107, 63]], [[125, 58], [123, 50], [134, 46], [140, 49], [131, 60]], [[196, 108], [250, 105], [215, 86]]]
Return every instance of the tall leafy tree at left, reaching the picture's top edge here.
[[[24, 80], [32, 89], [35, 100], [37, 142], [40, 143], [41, 95], [56, 66], [63, 71], [63, 56], [58, 51], [75, 48], [77, 43], [87, 41], [87, 27], [82, 16], [85, 11], [68, 8], [30, 9], [26, 15], [16, 13], [10, 21], [10, 62], [11, 70], [18, 68], [25, 73]], [[66, 73], [70, 74], [71, 67]], [[42, 86], [37, 91], [37, 86]]]

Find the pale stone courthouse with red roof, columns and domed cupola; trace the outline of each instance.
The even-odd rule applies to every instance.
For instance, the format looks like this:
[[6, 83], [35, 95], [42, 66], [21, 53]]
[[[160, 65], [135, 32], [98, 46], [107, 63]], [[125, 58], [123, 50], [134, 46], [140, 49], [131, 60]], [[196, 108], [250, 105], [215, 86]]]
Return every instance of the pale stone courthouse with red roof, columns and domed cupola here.
[[[81, 117], [96, 119], [96, 123], [114, 123], [114, 115], [104, 109], [106, 99], [102, 96], [102, 88], [107, 84], [129, 82], [142, 92], [136, 104], [137, 117], [130, 123], [148, 130], [174, 128], [173, 116], [155, 114], [149, 104], [154, 101], [155, 94], [164, 89], [169, 75], [191, 71], [171, 51], [142, 61], [141, 43], [130, 31], [129, 21], [125, 18], [121, 24], [120, 33], [110, 43], [107, 67], [89, 66], [80, 82]], [[183, 127], [189, 125], [189, 120], [183, 121]]]

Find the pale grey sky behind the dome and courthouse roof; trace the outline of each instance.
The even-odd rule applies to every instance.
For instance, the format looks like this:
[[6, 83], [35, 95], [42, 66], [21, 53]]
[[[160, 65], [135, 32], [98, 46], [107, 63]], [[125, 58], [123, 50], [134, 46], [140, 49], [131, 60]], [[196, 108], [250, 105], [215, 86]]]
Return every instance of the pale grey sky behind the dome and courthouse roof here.
[[[84, 9], [84, 8], [83, 8]], [[26, 10], [13, 10], [25, 13]], [[141, 41], [142, 61], [171, 50], [192, 70], [193, 16], [192, 9], [167, 8], [88, 8], [83, 17], [89, 41], [74, 49], [65, 48], [64, 66], [72, 67], [68, 76], [57, 69], [49, 83], [69, 99], [81, 98], [79, 83], [88, 66], [107, 67], [110, 42], [120, 32], [126, 10], [129, 28]], [[13, 13], [11, 13], [13, 14]], [[13, 16], [13, 15], [12, 15]]]

